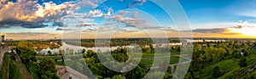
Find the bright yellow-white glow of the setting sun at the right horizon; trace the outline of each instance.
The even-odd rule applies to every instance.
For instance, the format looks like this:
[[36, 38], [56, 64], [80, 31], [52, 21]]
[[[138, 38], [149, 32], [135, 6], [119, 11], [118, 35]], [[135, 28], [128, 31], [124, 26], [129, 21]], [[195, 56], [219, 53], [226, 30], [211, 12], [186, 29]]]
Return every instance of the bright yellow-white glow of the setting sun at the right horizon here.
[[256, 36], [256, 27], [253, 27], [253, 26], [250, 26], [250, 27], [244, 26], [241, 28], [231, 28], [230, 31], [234, 32], [234, 33], [241, 33], [241, 34], [247, 35], [247, 36], [253, 36], [253, 37]]

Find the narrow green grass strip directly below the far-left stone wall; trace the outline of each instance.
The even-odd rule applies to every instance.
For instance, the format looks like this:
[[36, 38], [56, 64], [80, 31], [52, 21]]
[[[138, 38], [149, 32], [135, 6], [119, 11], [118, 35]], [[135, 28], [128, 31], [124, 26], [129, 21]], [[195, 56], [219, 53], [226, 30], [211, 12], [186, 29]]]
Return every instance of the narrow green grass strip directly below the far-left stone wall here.
[[9, 60], [10, 54], [4, 54], [3, 55], [3, 65], [0, 71], [0, 79], [7, 79], [8, 75], [8, 60]]

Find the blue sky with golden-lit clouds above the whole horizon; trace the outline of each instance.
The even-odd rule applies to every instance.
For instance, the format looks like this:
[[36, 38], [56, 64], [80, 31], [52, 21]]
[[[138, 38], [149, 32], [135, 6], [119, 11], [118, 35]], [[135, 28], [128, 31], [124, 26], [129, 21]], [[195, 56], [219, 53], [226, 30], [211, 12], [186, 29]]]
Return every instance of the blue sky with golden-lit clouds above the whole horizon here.
[[[14, 40], [61, 38], [77, 31], [82, 38], [108, 34], [112, 34], [110, 37], [180, 37], [179, 34], [191, 31], [193, 37], [256, 38], [255, 0], [177, 2], [1, 0], [0, 32]], [[174, 8], [165, 9], [160, 5], [164, 3]], [[183, 13], [182, 17], [189, 21], [175, 20]], [[180, 26], [186, 23], [189, 25]]]

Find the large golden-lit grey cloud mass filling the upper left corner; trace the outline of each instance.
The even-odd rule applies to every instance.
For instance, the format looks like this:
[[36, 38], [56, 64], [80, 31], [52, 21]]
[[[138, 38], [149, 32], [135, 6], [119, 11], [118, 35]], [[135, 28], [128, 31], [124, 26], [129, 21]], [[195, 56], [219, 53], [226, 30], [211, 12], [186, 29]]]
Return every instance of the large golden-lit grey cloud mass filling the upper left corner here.
[[[56, 22], [62, 16], [70, 14], [79, 6], [74, 2], [39, 4], [37, 1], [17, 0], [17, 2], [0, 3], [0, 27], [13, 25], [24, 28], [44, 27], [44, 23]], [[55, 23], [60, 25], [60, 23]]]

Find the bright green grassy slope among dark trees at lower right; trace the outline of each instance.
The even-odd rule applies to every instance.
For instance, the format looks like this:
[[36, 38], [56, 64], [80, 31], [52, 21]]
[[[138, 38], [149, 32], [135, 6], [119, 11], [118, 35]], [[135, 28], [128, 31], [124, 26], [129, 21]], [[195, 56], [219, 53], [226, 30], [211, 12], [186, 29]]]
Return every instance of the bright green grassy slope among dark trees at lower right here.
[[239, 63], [239, 61], [236, 59], [222, 60], [222, 61], [219, 61], [215, 65], [208, 65], [201, 71], [201, 73], [199, 71], [196, 71], [195, 77], [198, 79], [212, 79], [212, 68], [214, 66], [218, 65], [218, 67], [220, 67], [220, 71], [222, 73], [228, 73], [236, 68], [239, 68], [238, 63]]

